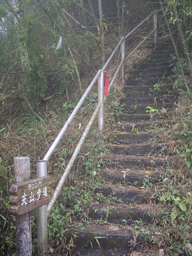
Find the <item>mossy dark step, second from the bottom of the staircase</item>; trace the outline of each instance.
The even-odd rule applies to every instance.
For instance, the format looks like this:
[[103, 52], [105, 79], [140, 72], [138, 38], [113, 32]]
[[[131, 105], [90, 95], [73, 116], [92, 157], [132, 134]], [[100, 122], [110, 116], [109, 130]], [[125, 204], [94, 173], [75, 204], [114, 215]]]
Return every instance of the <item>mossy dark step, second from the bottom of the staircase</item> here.
[[154, 216], [162, 214], [163, 210], [160, 204], [108, 206], [107, 204], [98, 204], [98, 202], [84, 208], [84, 211], [88, 211], [89, 218], [107, 219], [109, 223], [114, 224], [123, 224], [122, 220], [125, 220], [126, 224], [132, 224], [135, 220], [142, 220], [148, 224]]

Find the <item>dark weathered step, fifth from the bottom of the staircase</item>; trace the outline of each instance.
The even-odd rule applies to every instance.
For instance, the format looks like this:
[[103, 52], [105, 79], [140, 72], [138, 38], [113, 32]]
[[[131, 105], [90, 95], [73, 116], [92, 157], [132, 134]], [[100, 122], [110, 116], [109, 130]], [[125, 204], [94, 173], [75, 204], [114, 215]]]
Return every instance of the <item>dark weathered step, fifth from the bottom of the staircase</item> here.
[[150, 157], [150, 156], [109, 156], [109, 166], [115, 169], [142, 169], [156, 168], [160, 166], [173, 165], [176, 160], [172, 156]]

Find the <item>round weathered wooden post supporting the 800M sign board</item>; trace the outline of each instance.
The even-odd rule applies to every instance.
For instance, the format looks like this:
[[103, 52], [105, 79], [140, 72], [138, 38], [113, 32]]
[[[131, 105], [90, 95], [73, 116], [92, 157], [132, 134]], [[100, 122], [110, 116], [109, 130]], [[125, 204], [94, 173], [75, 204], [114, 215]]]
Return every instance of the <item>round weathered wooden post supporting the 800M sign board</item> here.
[[[30, 158], [14, 158], [16, 183], [30, 180]], [[23, 198], [25, 203], [25, 198]], [[31, 213], [16, 216], [17, 256], [32, 256]]]

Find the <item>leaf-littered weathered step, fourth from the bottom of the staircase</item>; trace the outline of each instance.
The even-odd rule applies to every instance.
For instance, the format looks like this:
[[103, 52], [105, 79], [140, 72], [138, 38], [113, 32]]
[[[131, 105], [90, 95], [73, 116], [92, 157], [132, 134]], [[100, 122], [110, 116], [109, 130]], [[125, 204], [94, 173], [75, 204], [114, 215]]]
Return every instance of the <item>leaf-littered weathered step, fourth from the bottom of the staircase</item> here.
[[147, 179], [151, 183], [156, 183], [162, 180], [163, 173], [160, 171], [157, 173], [148, 169], [141, 170], [116, 170], [116, 169], [104, 169], [100, 172], [100, 176], [105, 178], [106, 181], [113, 184], [127, 184], [132, 186], [142, 186], [144, 179]]

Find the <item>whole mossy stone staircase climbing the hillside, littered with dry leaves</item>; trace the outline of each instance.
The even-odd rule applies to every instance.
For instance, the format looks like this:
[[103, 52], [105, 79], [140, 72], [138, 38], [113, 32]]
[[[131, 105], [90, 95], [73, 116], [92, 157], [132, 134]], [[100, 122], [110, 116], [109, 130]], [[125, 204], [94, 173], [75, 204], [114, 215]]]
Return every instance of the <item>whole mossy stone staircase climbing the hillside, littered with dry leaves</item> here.
[[[176, 159], [170, 154], [170, 145], [154, 141], [150, 130], [170, 124], [176, 107], [177, 92], [170, 83], [173, 53], [170, 40], [161, 40], [146, 60], [128, 72], [125, 98], [120, 100], [124, 110], [114, 114], [118, 132], [107, 138], [111, 154], [100, 174], [105, 183], [95, 188], [95, 201], [84, 209], [100, 222], [70, 231], [73, 255], [158, 255], [153, 252], [154, 240], [159, 236], [154, 231], [156, 216], [166, 212], [158, 201], [158, 183]], [[147, 106], [159, 112], [147, 113]], [[166, 114], [161, 113], [162, 107]]]

